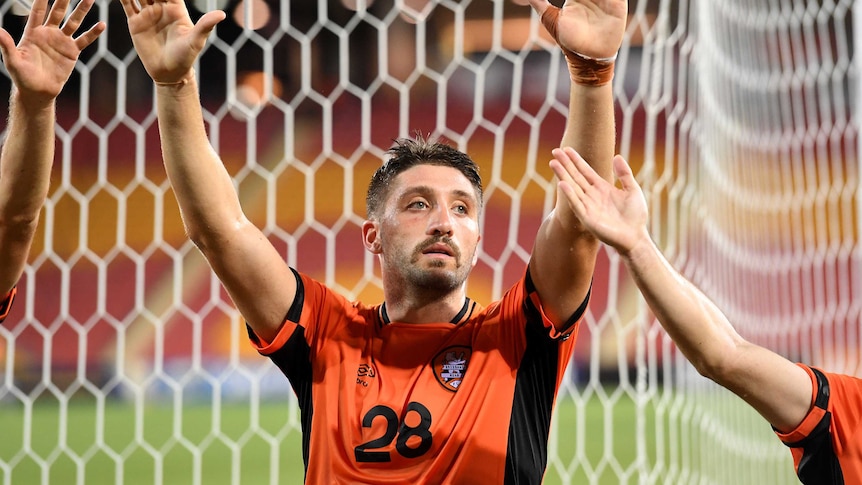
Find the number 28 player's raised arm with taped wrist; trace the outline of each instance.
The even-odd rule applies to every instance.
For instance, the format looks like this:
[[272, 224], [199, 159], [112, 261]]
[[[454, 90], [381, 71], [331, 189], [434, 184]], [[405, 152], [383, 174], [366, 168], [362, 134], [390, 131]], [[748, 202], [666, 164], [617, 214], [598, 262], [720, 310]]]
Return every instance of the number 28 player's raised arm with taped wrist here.
[[[611, 79], [628, 2], [567, 0], [562, 8], [546, 0], [530, 3], [562, 49], [571, 74], [569, 114], [560, 146], [574, 147], [610, 179], [616, 134]], [[557, 194], [554, 210], [536, 235], [530, 274], [545, 313], [558, 329], [590, 289], [598, 246]]]

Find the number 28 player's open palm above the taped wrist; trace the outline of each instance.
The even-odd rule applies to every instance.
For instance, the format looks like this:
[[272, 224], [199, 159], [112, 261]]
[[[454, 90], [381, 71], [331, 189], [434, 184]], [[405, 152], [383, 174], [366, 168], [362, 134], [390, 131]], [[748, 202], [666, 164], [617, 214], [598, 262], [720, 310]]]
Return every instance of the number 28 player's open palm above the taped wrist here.
[[548, 0], [530, 5], [563, 49], [595, 59], [612, 58], [622, 45], [627, 0], [566, 0], [562, 8]]

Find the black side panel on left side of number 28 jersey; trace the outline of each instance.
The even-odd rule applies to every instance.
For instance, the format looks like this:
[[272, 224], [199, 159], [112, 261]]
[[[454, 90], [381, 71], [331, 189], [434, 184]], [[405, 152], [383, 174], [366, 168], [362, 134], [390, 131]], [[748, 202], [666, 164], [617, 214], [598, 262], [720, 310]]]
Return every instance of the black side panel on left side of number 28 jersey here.
[[[305, 301], [305, 286], [302, 278], [293, 268], [296, 277], [296, 297], [287, 311], [285, 320], [299, 323], [302, 315], [302, 304]], [[257, 336], [249, 329], [249, 336], [257, 339]], [[297, 325], [290, 338], [284, 346], [273, 352], [269, 358], [275, 363], [281, 372], [287, 376], [293, 392], [296, 393], [299, 402], [300, 419], [302, 421], [302, 461], [308, 470], [308, 453], [311, 440], [311, 417], [314, 409], [311, 401], [311, 349], [305, 340], [305, 328]]]

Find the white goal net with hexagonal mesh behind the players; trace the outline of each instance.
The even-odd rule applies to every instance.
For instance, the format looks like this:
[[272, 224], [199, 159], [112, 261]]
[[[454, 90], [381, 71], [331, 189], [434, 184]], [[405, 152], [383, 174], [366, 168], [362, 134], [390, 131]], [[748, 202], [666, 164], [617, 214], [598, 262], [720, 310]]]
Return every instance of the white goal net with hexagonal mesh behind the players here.
[[[527, 0], [189, 6], [228, 13], [197, 66], [205, 122], [290, 265], [382, 299], [360, 243], [365, 188], [392, 140], [421, 132], [481, 165], [470, 296], [522, 274], [568, 97]], [[618, 151], [671, 262], [746, 338], [856, 373], [851, 6], [630, 0], [614, 89]], [[0, 6], [16, 39], [27, 8]], [[97, 19], [108, 31], [58, 101], [49, 199], [0, 326], [0, 483], [301, 483], [293, 393], [185, 237], [119, 2], [97, 0]], [[546, 483], [794, 483], [769, 425], [675, 351], [613, 251], [582, 325]]]

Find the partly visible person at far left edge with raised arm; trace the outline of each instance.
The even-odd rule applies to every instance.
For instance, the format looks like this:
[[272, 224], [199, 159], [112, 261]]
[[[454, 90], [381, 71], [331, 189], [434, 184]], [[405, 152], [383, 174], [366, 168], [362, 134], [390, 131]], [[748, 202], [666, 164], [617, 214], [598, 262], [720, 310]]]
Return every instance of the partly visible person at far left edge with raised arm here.
[[0, 28], [0, 53], [9, 77], [9, 119], [0, 153], [0, 322], [9, 314], [24, 272], [54, 161], [56, 99], [81, 51], [105, 30], [97, 22], [73, 37], [94, 0], [67, 19], [69, 0], [35, 0], [18, 45]]

